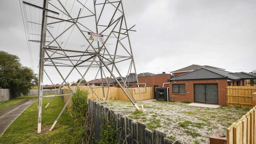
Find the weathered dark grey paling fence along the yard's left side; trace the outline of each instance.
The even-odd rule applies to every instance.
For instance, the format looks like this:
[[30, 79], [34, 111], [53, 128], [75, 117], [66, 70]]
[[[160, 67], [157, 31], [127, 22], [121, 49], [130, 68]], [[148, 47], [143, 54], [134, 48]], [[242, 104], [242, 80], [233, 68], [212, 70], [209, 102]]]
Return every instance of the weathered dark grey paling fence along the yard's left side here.
[[[120, 130], [120, 144], [173, 144], [173, 140], [166, 138], [166, 134], [153, 129], [147, 129], [145, 124], [134, 122], [127, 116], [88, 100], [88, 109], [93, 116], [95, 144], [100, 140], [100, 128], [104, 128], [107, 120], [113, 119], [115, 130]], [[180, 144], [175, 142], [174, 144]]]

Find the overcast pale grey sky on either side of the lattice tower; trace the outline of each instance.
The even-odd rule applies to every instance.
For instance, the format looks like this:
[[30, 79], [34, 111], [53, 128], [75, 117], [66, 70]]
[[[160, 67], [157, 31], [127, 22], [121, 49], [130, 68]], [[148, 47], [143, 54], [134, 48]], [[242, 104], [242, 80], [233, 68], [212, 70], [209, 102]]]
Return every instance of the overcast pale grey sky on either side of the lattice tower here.
[[[231, 72], [256, 68], [255, 0], [123, 0], [123, 6], [127, 22], [136, 25], [130, 38], [138, 73], [192, 64]], [[0, 50], [32, 67], [19, 0], [0, 1], [0, 20]]]

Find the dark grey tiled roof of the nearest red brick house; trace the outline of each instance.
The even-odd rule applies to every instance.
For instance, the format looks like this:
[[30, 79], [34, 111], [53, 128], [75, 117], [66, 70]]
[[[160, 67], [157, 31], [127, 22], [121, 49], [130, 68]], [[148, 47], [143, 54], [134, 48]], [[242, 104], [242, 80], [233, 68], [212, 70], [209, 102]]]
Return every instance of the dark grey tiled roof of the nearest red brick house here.
[[189, 80], [189, 79], [229, 79], [232, 81], [241, 79], [256, 79], [255, 74], [246, 72], [228, 72], [215, 68], [199, 68], [186, 74], [182, 74], [172, 78], [171, 80]]

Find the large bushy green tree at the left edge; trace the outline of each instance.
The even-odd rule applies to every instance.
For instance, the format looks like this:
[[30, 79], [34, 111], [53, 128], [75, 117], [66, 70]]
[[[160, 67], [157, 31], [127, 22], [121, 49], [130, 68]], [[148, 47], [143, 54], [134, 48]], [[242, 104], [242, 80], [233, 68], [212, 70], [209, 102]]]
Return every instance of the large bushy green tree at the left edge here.
[[17, 55], [0, 51], [0, 88], [26, 95], [38, 83], [37, 75], [27, 66], [22, 66]]

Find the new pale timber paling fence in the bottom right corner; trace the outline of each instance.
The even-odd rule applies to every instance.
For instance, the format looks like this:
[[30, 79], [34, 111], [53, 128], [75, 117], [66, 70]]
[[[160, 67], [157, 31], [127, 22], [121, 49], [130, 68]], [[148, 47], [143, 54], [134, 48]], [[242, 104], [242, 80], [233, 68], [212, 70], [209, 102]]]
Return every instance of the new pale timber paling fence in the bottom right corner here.
[[[255, 93], [256, 95], [256, 93]], [[256, 107], [227, 129], [227, 144], [256, 143]]]

